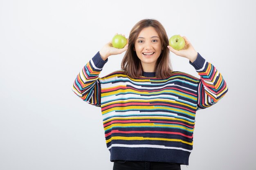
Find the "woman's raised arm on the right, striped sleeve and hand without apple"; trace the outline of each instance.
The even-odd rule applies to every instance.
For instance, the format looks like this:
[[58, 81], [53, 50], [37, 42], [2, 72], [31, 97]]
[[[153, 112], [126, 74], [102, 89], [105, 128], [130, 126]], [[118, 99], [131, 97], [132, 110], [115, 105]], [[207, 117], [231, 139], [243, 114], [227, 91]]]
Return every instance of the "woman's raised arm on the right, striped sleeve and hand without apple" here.
[[198, 86], [198, 108], [207, 108], [218, 102], [228, 91], [227, 84], [218, 70], [195, 51], [189, 40], [183, 36], [185, 46], [175, 50], [168, 46], [171, 52], [189, 59], [190, 64], [200, 75]]

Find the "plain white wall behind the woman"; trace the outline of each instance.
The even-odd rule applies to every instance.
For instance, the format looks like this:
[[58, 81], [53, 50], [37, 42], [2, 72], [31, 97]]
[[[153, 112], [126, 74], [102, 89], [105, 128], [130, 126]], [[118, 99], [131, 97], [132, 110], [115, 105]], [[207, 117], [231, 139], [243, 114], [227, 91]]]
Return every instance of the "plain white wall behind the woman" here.
[[[254, 0], [0, 0], [0, 169], [111, 170], [101, 110], [71, 90], [81, 68], [115, 33], [154, 18], [186, 35], [229, 92], [197, 112], [183, 170], [255, 170]], [[111, 56], [100, 76], [119, 70]], [[175, 71], [197, 76], [171, 53]], [[198, 76], [197, 76], [198, 77]]]

